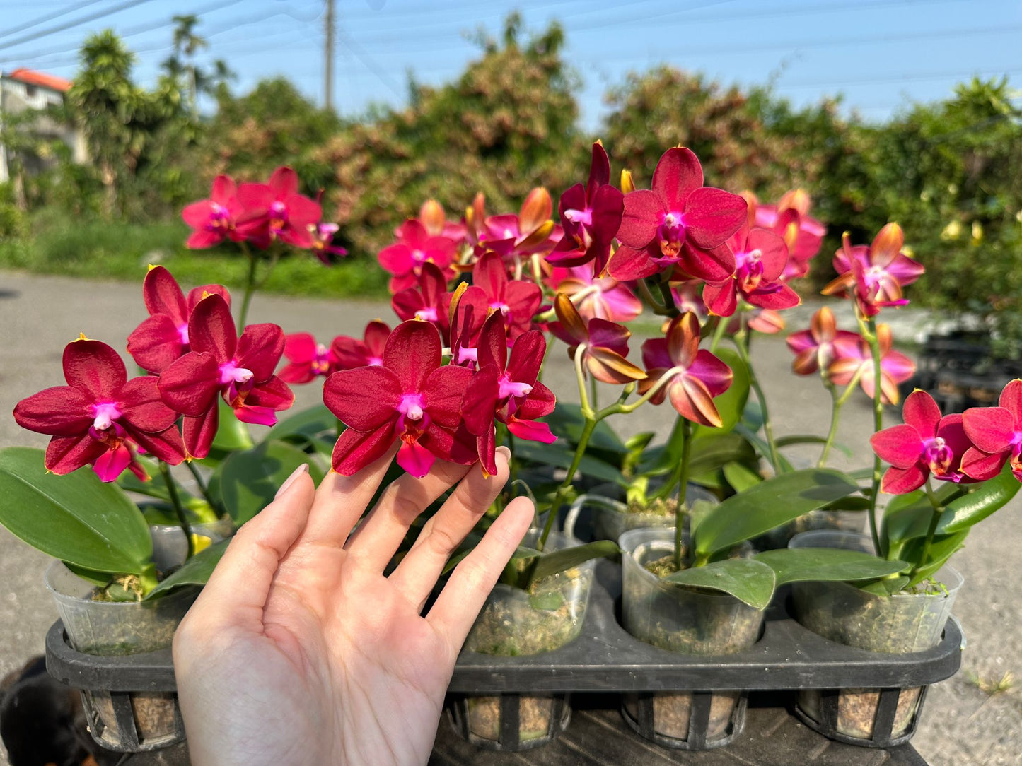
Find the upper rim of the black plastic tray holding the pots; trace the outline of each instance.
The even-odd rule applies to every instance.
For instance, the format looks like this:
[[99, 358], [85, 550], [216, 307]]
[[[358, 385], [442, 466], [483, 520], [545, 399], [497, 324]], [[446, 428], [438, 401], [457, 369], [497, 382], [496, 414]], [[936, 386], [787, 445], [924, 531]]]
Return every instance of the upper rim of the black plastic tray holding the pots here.
[[[922, 686], [953, 676], [961, 665], [962, 632], [948, 621], [927, 652], [887, 655], [829, 641], [791, 619], [782, 593], [768, 612], [761, 638], [724, 657], [689, 657], [633, 638], [619, 625], [620, 566], [600, 561], [582, 634], [555, 652], [495, 657], [462, 652], [449, 690], [655, 691]], [[46, 635], [46, 664], [65, 683], [110, 691], [175, 691], [170, 650], [94, 657], [73, 650], [58, 620]]]

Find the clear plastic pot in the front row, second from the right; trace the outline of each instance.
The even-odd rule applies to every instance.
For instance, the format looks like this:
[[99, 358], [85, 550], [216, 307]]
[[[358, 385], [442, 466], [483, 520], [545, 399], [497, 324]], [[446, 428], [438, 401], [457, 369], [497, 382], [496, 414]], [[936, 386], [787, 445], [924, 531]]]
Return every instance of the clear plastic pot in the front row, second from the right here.
[[[732, 595], [662, 581], [646, 569], [673, 552], [673, 530], [634, 529], [621, 535], [621, 617], [636, 638], [683, 655], [729, 655], [759, 637], [763, 611]], [[670, 748], [705, 750], [741, 733], [741, 691], [626, 695], [621, 713], [640, 734]]]

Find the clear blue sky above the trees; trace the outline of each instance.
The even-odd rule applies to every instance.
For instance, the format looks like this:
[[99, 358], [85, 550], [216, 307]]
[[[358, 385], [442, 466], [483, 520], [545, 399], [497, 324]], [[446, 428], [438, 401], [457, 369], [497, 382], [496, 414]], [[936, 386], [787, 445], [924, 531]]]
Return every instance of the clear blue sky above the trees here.
[[[197, 13], [198, 34], [210, 42], [201, 58], [225, 58], [239, 76], [236, 89], [285, 75], [321, 102], [324, 6], [0, 0], [0, 67], [72, 78], [85, 35], [111, 28], [137, 51], [137, 74], [151, 83], [170, 53], [171, 16]], [[408, 71], [429, 84], [456, 77], [478, 55], [467, 34], [480, 26], [499, 34], [513, 9], [527, 29], [554, 19], [564, 27], [588, 128], [599, 124], [608, 87], [663, 62], [726, 84], [772, 82], [795, 104], [842, 93], [846, 107], [868, 119], [942, 98], [973, 75], [1022, 82], [1020, 0], [336, 0], [336, 7], [334, 102], [347, 115], [372, 102], [403, 104]], [[97, 17], [76, 23], [90, 16]]]

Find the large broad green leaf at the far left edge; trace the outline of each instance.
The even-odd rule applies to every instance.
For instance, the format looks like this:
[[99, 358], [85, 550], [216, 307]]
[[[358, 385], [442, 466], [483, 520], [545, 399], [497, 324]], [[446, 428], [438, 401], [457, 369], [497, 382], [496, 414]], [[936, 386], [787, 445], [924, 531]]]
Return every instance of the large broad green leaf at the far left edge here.
[[0, 450], [0, 523], [45, 554], [97, 572], [141, 574], [152, 566], [149, 527], [117, 484], [91, 468], [46, 473], [43, 450]]

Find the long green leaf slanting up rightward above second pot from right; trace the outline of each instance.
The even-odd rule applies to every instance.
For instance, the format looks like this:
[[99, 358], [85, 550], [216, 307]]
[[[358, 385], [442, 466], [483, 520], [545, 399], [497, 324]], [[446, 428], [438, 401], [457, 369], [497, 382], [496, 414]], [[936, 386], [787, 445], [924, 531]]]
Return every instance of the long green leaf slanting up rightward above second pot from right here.
[[695, 530], [696, 553], [708, 556], [763, 534], [857, 488], [838, 471], [809, 468], [775, 476], [717, 506]]

